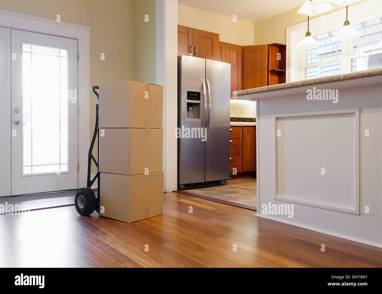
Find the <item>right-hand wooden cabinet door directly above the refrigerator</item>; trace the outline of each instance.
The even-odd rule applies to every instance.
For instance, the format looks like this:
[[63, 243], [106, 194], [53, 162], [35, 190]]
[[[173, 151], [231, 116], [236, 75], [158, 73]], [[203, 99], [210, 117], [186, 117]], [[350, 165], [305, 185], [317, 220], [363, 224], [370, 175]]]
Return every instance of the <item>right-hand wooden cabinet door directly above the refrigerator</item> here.
[[219, 34], [194, 29], [194, 56], [218, 60]]

